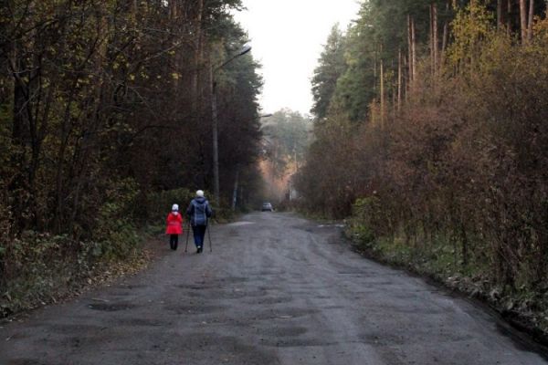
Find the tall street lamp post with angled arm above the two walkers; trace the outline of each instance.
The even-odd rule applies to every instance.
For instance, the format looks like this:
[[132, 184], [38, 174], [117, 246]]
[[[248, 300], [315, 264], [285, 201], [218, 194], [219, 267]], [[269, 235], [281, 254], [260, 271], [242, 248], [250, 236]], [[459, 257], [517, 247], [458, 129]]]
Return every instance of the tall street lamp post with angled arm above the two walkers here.
[[232, 62], [237, 57], [243, 56], [251, 50], [251, 46], [248, 44], [244, 45], [240, 51], [230, 57], [220, 66], [214, 68], [211, 65], [209, 68], [209, 78], [211, 80], [211, 121], [212, 121], [212, 130], [213, 130], [213, 186], [216, 203], [220, 203], [220, 193], [219, 193], [219, 140], [218, 140], [218, 121], [217, 121], [217, 106], [216, 106], [216, 80], [215, 73], [221, 68], [227, 66], [228, 63]]

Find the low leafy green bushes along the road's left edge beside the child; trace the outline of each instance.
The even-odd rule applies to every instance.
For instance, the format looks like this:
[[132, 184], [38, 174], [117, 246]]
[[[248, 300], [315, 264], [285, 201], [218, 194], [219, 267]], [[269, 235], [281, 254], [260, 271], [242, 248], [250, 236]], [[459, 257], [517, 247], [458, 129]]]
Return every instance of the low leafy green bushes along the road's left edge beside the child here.
[[[66, 296], [111, 264], [139, 257], [134, 183], [118, 183], [105, 193], [98, 213], [90, 212], [81, 221], [85, 225], [75, 225], [74, 235], [31, 230], [15, 235], [11, 214], [2, 216], [0, 317]], [[80, 232], [84, 226], [91, 231]]]

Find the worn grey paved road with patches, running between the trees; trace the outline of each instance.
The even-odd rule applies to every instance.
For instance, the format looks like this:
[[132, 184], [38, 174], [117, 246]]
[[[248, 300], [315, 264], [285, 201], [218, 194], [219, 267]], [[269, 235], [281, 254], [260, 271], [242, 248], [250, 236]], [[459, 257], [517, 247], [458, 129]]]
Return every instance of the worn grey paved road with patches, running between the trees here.
[[[290, 214], [0, 329], [0, 364], [546, 364], [467, 301]], [[208, 251], [208, 250], [207, 250]]]

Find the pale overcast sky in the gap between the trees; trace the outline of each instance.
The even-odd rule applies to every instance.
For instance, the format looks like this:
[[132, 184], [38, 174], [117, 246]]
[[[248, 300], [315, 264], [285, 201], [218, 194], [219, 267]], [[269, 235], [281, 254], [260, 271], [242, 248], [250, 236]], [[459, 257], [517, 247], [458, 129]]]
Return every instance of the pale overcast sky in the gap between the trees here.
[[243, 0], [236, 14], [248, 30], [253, 57], [264, 78], [264, 113], [282, 108], [308, 114], [311, 77], [322, 45], [335, 23], [344, 30], [359, 10], [358, 0]]

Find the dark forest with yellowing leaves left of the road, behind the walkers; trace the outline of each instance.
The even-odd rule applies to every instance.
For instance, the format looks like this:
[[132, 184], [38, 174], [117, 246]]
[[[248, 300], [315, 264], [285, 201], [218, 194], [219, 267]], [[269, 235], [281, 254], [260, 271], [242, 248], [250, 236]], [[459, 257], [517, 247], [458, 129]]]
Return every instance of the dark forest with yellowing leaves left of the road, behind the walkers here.
[[0, 317], [139, 256], [197, 189], [218, 216], [238, 174], [254, 199], [262, 80], [240, 8], [0, 3]]

